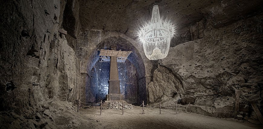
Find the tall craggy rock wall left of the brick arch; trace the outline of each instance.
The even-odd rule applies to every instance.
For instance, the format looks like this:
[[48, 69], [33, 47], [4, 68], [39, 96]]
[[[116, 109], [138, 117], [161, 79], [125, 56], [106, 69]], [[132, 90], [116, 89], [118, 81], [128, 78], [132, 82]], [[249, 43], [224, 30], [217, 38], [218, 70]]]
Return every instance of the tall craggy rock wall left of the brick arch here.
[[79, 60], [58, 32], [65, 5], [54, 0], [2, 2], [2, 112], [34, 117], [38, 106], [50, 99], [78, 99]]

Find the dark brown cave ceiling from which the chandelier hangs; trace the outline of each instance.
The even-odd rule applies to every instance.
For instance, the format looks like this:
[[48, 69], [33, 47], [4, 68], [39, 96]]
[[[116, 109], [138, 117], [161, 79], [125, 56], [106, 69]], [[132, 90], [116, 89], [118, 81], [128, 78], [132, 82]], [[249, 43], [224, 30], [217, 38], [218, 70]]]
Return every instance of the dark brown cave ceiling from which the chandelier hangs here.
[[[114, 30], [131, 38], [138, 36], [140, 25], [151, 20], [155, 0], [80, 1], [83, 29]], [[262, 0], [159, 0], [161, 17], [169, 18], [177, 33], [201, 19], [222, 27], [239, 19], [262, 13]]]

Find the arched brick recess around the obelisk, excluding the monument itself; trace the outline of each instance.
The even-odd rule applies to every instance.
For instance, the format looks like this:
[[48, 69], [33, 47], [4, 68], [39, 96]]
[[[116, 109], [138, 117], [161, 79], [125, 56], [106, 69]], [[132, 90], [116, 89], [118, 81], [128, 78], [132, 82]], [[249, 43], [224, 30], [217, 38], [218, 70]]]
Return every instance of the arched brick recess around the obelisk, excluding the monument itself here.
[[[121, 94], [128, 103], [138, 105], [146, 98], [146, 80], [145, 68], [139, 51], [129, 41], [122, 37], [109, 37], [101, 41], [91, 57], [90, 70], [91, 76], [86, 83], [86, 102], [97, 103], [104, 101], [109, 88], [109, 71], [110, 62], [99, 60], [99, 49], [111, 49], [111, 46], [117, 46], [116, 51], [132, 51], [125, 62], [118, 62], [118, 73], [120, 79]], [[137, 99], [140, 98], [140, 99]]]

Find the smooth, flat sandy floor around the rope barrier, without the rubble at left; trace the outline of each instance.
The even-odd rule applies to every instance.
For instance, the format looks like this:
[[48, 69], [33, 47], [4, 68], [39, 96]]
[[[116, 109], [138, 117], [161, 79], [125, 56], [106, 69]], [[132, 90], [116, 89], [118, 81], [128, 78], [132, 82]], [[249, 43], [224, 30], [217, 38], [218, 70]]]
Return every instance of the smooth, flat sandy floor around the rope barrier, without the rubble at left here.
[[[214, 118], [194, 113], [178, 112], [177, 115], [172, 110], [145, 109], [142, 115], [142, 109], [126, 109], [124, 115], [122, 110], [105, 109], [100, 115], [99, 107], [90, 109], [80, 109], [79, 113], [74, 113], [72, 118], [55, 118], [54, 121], [61, 122], [56, 124], [63, 125], [71, 121], [68, 128], [263, 128], [263, 125], [256, 125], [249, 122], [239, 123], [231, 119]], [[70, 115], [70, 114], [68, 114]], [[67, 116], [67, 115], [66, 115]], [[59, 128], [67, 128], [58, 126]]]

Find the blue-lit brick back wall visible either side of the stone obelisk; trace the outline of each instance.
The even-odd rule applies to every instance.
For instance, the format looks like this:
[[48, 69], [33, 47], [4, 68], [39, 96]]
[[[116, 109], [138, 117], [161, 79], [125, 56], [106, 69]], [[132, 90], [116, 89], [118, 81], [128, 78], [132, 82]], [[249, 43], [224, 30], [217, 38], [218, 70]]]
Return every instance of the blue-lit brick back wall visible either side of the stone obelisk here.
[[[105, 100], [109, 90], [110, 62], [99, 62], [95, 64], [98, 75], [98, 101]], [[121, 94], [125, 95], [125, 63], [118, 63]], [[125, 96], [124, 96], [125, 97]]]

